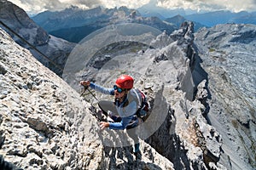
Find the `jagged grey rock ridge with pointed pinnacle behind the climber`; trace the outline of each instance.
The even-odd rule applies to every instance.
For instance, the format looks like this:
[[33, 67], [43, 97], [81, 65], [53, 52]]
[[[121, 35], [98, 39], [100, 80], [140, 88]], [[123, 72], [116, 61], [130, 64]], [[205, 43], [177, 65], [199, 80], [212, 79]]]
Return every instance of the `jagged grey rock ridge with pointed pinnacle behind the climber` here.
[[[111, 68], [110, 61], [97, 68], [102, 72], [96, 72], [94, 77], [98, 78], [96, 83], [110, 87], [114, 77], [119, 76], [119, 69], [133, 73], [135, 87], [146, 92], [153, 106], [140, 129], [141, 137], [172, 161], [175, 169], [222, 169], [222, 137], [204, 117], [208, 110], [207, 73], [196, 55], [193, 28], [193, 23], [184, 23], [170, 36], [163, 32], [151, 42], [154, 49], [143, 54], [120, 54], [109, 65]], [[101, 54], [109, 54], [108, 49]], [[73, 75], [90, 79], [88, 72], [90, 68], [86, 67], [86, 75], [79, 71]], [[104, 99], [101, 95], [98, 98]], [[113, 136], [107, 134], [105, 138]]]

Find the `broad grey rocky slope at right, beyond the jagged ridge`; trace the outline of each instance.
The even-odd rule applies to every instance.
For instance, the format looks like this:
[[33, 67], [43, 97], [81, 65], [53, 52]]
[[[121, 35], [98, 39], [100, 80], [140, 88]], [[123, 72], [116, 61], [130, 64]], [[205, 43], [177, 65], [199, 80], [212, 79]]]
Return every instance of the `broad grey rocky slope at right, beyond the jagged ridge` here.
[[[234, 169], [255, 168], [256, 26], [218, 25], [195, 33], [211, 93], [207, 120]], [[227, 155], [227, 156], [225, 156]], [[253, 166], [253, 167], [251, 167]]]

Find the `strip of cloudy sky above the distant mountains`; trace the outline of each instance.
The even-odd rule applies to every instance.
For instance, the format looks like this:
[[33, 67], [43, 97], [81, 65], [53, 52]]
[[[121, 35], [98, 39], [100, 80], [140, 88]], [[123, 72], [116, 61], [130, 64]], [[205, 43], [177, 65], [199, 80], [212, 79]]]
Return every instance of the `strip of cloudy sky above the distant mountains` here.
[[[128, 8], [139, 8], [150, 0], [9, 0], [27, 14], [38, 14], [44, 10], [61, 10], [70, 5], [80, 8], [95, 8], [101, 5], [105, 8], [126, 6]], [[230, 10], [239, 12], [242, 10], [256, 11], [256, 0], [151, 0], [157, 6], [163, 8], [185, 8], [196, 11]]]

